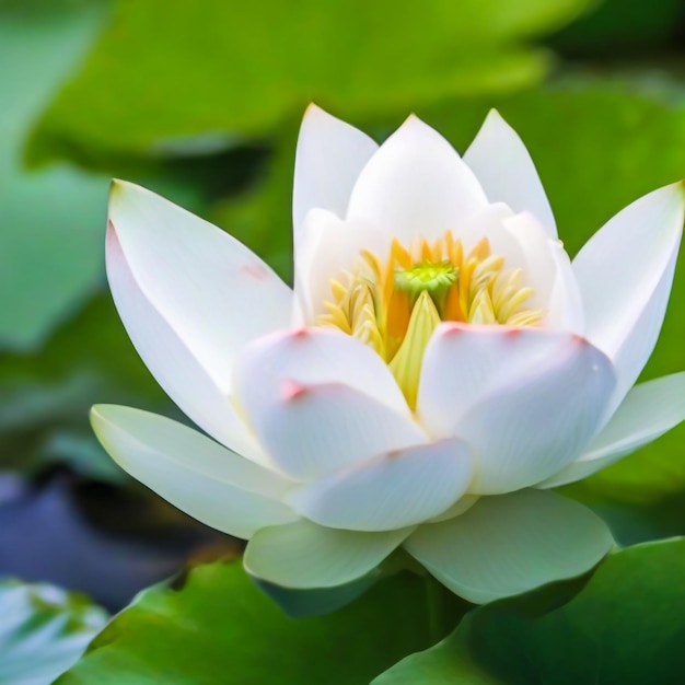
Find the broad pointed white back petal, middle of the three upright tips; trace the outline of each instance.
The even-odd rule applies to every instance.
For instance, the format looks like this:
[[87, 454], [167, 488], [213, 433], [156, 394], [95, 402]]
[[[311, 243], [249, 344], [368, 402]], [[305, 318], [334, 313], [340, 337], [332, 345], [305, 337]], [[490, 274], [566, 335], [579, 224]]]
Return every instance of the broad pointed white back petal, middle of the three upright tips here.
[[486, 205], [475, 175], [452, 146], [410, 116], [360, 173], [347, 217], [410, 244], [455, 229]]

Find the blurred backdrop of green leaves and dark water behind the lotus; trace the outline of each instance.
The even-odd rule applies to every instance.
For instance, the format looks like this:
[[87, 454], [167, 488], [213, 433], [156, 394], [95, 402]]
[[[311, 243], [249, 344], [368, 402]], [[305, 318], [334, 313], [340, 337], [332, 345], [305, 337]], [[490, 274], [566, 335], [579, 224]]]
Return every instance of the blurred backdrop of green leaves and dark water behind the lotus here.
[[[183, 420], [107, 291], [112, 176], [216, 222], [289, 278], [309, 102], [379, 140], [416, 112], [462, 151], [496, 106], [573, 255], [685, 176], [684, 38], [675, 0], [0, 0], [0, 577], [118, 608], [188, 559], [236, 549], [91, 434], [94, 403]], [[645, 378], [685, 369], [684, 266]], [[620, 542], [683, 534], [684, 441], [681, 427], [567, 492]]]

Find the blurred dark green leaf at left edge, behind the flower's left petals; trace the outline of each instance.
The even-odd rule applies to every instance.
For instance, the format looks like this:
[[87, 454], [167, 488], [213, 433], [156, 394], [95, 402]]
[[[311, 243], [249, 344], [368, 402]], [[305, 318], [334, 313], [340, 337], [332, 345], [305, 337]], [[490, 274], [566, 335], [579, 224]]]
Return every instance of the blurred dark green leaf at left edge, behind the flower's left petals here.
[[59, 462], [98, 479], [127, 479], [90, 428], [88, 411], [97, 402], [175, 414], [109, 295], [65, 322], [40, 355], [0, 355], [0, 469], [37, 472]]

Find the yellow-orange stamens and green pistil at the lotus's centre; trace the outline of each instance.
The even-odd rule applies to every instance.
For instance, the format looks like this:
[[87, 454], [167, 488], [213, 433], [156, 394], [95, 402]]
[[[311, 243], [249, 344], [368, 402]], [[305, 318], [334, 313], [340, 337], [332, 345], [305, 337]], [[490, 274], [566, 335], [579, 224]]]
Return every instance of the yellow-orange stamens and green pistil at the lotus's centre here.
[[504, 268], [487, 239], [464, 253], [451, 231], [409, 248], [393, 240], [385, 262], [362, 251], [353, 274], [330, 281], [332, 300], [321, 326], [335, 326], [372, 347], [388, 364], [409, 406], [423, 351], [443, 321], [509, 326], [535, 325], [543, 312], [525, 306], [533, 289], [521, 269]]

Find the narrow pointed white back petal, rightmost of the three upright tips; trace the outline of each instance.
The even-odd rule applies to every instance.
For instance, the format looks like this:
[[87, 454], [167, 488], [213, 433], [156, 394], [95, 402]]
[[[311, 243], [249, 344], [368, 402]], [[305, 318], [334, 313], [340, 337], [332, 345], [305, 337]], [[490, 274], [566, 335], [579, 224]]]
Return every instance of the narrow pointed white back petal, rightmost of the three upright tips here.
[[495, 109], [486, 117], [464, 153], [490, 202], [506, 202], [514, 211], [530, 211], [552, 237], [557, 227], [535, 164], [518, 133]]

